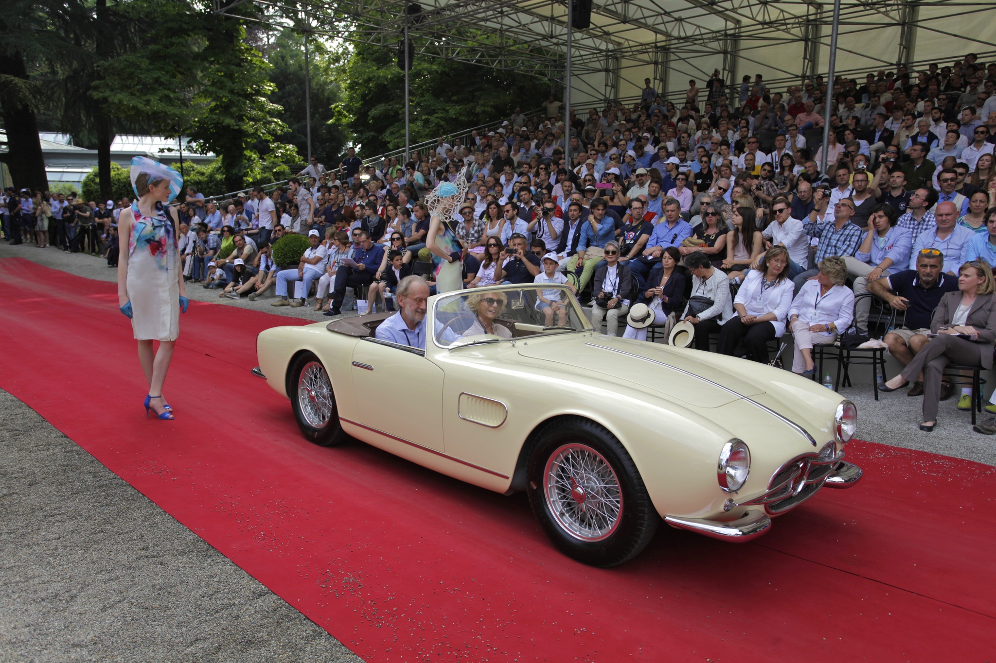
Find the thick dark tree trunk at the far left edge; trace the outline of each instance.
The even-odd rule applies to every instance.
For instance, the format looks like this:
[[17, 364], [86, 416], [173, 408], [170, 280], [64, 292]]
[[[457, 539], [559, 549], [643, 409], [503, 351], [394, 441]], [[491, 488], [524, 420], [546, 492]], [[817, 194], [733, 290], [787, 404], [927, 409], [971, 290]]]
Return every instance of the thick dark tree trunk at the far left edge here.
[[[29, 80], [20, 52], [11, 56], [0, 55], [0, 77], [2, 76]], [[9, 150], [4, 161], [10, 167], [14, 187], [47, 191], [49, 178], [45, 174], [45, 157], [42, 155], [42, 143], [38, 139], [38, 118], [34, 109], [24, 99], [0, 94], [0, 111], [3, 112]]]

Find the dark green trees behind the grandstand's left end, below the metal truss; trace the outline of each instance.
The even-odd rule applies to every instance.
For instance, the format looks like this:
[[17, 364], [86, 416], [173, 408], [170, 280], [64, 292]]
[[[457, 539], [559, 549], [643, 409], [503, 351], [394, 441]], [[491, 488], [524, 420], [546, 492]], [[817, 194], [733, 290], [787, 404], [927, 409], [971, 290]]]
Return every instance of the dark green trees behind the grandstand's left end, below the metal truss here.
[[[340, 111], [364, 156], [404, 147], [404, 72], [396, 49], [358, 45], [342, 67]], [[416, 57], [409, 73], [411, 142], [537, 108], [550, 83], [467, 63]]]

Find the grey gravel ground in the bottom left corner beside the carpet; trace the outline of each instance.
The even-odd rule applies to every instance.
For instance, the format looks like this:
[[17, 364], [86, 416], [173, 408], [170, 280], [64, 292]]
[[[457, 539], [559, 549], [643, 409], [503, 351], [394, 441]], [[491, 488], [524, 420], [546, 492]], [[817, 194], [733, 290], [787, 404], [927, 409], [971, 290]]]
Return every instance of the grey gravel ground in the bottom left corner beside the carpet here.
[[0, 390], [0, 661], [361, 661]]

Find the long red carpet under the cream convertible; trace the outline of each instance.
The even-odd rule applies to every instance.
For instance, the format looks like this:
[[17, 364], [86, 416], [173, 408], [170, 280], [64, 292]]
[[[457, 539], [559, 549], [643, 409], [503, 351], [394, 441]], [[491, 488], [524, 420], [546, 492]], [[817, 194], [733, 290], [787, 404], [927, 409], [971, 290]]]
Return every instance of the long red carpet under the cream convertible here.
[[[369, 661], [984, 661], [993, 468], [853, 443], [867, 478], [741, 546], [661, 527], [620, 569], [557, 553], [523, 496], [325, 449], [249, 370], [297, 319], [191, 302], [145, 394], [114, 283], [0, 260], [0, 387]], [[966, 434], [971, 434], [966, 427]]]

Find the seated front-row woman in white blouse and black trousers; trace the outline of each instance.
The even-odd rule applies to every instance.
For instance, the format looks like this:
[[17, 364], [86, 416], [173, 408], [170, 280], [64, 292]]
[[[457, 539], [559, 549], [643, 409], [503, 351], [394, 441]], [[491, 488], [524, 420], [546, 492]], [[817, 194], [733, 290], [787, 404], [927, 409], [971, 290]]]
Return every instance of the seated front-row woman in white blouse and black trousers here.
[[768, 363], [768, 341], [785, 333], [794, 286], [789, 275], [789, 251], [772, 247], [757, 269], [744, 277], [733, 300], [736, 315], [723, 325], [717, 351]]

